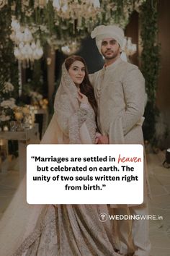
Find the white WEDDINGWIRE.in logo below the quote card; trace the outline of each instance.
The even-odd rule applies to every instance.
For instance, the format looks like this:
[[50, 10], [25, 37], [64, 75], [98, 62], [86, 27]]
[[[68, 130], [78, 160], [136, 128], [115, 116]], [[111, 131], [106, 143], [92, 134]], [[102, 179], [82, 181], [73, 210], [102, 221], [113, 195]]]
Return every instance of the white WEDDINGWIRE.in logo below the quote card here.
[[109, 219], [110, 221], [121, 221], [121, 220], [151, 220], [151, 221], [160, 221], [163, 220], [163, 216], [157, 216], [156, 214], [148, 214], [148, 215], [109, 215], [107, 213], [99, 214], [99, 221], [105, 222]]

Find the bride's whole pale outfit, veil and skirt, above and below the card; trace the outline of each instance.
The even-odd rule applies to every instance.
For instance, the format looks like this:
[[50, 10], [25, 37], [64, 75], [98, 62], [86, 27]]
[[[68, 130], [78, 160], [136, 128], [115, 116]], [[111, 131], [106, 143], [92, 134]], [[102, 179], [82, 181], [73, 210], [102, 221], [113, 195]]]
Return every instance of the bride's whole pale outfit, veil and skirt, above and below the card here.
[[[91, 144], [93, 108], [80, 104], [65, 64], [55, 96], [55, 114], [42, 138], [45, 144]], [[0, 256], [118, 256], [107, 205], [28, 205], [25, 178], [0, 222]], [[60, 195], [56, 195], [60, 196]]]

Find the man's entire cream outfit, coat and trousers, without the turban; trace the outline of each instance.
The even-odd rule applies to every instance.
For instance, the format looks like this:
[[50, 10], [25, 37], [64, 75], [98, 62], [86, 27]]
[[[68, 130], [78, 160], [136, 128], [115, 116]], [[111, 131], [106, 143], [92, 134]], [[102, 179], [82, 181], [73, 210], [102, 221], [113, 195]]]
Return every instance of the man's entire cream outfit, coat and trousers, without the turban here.
[[[94, 86], [94, 93], [98, 106], [98, 126], [102, 135], [109, 137], [109, 144], [143, 144], [143, 113], [146, 103], [145, 80], [138, 67], [128, 62], [117, 59], [113, 64], [104, 66], [103, 69], [90, 75], [91, 84]], [[145, 168], [146, 172], [146, 168]], [[148, 192], [148, 178], [144, 174], [144, 190]], [[147, 214], [146, 205], [140, 208], [133, 205], [124, 205], [130, 208], [117, 208], [117, 214]], [[122, 205], [112, 205], [122, 207]], [[122, 210], [120, 210], [122, 209]], [[129, 212], [128, 212], [129, 213]], [[120, 236], [120, 251], [129, 253], [128, 227], [122, 221], [117, 233]], [[145, 226], [145, 233], [143, 226]], [[148, 224], [146, 221], [134, 221], [132, 227], [133, 244], [135, 255], [149, 255], [150, 244], [148, 242]], [[140, 236], [145, 236], [142, 239]], [[121, 241], [122, 240], [122, 241]], [[125, 243], [125, 240], [127, 243]], [[124, 241], [124, 242], [123, 242]], [[142, 248], [141, 252], [140, 249]]]

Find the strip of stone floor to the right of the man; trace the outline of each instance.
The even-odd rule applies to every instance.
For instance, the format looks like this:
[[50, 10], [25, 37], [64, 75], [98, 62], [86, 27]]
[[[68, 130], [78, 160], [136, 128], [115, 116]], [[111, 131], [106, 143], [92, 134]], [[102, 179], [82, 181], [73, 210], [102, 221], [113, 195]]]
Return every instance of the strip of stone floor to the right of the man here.
[[163, 220], [150, 222], [152, 256], [170, 255], [170, 168], [162, 166], [164, 158], [163, 152], [147, 155], [152, 192], [150, 213], [163, 216]]

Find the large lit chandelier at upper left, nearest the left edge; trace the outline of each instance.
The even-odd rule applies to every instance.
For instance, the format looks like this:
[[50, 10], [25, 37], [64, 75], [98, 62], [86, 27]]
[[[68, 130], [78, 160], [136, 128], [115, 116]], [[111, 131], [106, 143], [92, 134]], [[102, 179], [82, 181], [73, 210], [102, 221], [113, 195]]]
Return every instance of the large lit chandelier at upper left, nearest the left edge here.
[[40, 59], [43, 54], [40, 40], [35, 41], [28, 27], [21, 27], [17, 20], [12, 20], [11, 40], [14, 42], [14, 56], [19, 60], [29, 63]]

